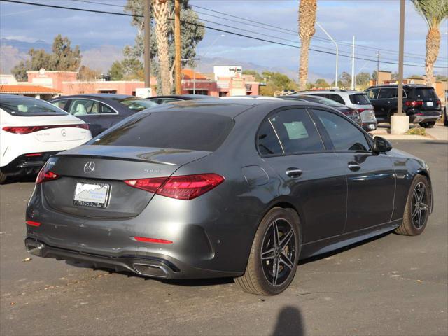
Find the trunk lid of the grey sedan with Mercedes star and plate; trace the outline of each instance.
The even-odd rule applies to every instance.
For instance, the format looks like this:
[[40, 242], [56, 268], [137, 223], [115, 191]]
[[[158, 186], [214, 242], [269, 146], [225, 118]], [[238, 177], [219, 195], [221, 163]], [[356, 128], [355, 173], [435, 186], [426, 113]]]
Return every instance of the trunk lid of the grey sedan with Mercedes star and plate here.
[[[50, 170], [61, 177], [43, 183], [43, 196], [50, 207], [67, 214], [131, 218], [144, 210], [154, 194], [132, 188], [123, 181], [169, 177], [182, 165], [209, 153], [170, 148], [80, 146], [52, 158]], [[99, 198], [103, 197], [98, 203], [79, 201], [87, 200], [81, 193], [93, 189], [101, 194]]]

